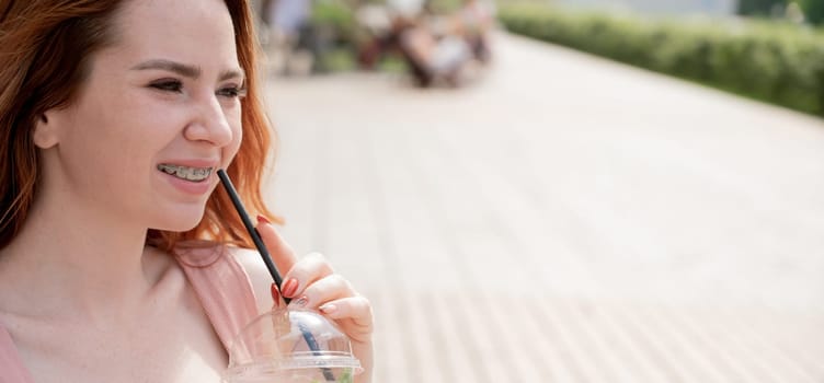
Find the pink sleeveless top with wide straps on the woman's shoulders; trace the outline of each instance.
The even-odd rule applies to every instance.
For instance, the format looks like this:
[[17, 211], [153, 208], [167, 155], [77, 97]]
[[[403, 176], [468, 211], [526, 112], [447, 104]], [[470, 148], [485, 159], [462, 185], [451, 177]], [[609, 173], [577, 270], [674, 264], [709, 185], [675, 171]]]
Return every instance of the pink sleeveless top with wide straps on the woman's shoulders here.
[[[186, 274], [227, 352], [232, 337], [258, 316], [252, 283], [226, 246], [191, 243], [175, 259]], [[0, 325], [0, 383], [34, 383], [5, 328]]]

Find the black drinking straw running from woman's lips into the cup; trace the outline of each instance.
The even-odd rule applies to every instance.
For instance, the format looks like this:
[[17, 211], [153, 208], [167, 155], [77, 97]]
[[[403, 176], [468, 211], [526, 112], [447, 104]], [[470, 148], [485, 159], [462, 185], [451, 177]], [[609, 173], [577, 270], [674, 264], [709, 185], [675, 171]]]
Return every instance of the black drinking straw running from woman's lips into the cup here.
[[[272, 262], [272, 256], [268, 254], [268, 249], [266, 249], [266, 245], [263, 244], [263, 240], [261, 239], [261, 234], [258, 233], [258, 229], [254, 228], [254, 224], [252, 224], [252, 220], [249, 218], [249, 213], [247, 212], [247, 209], [243, 207], [243, 202], [240, 200], [240, 197], [238, 196], [238, 190], [234, 189], [234, 185], [232, 185], [231, 179], [229, 179], [229, 175], [226, 174], [226, 171], [222, 169], [219, 169], [217, 171], [217, 176], [220, 177], [220, 183], [224, 184], [224, 188], [226, 188], [226, 193], [229, 194], [229, 198], [232, 200], [232, 205], [234, 205], [234, 210], [238, 210], [238, 216], [240, 216], [240, 220], [243, 221], [243, 225], [247, 228], [247, 231], [249, 232], [249, 235], [252, 237], [252, 242], [254, 242], [254, 246], [258, 247], [258, 252], [261, 254], [261, 258], [263, 258], [263, 263], [266, 264], [266, 268], [268, 269], [268, 274], [272, 275], [272, 279], [275, 280], [275, 285], [277, 286], [277, 290], [281, 291], [281, 286], [283, 283], [283, 278], [281, 278], [281, 272], [277, 271], [277, 267], [275, 266], [275, 263]], [[291, 301], [289, 298], [281, 297], [286, 302], [286, 304], [289, 304]], [[320, 347], [318, 346], [318, 341], [314, 339], [314, 336], [312, 333], [306, 328], [306, 326], [302, 323], [298, 323], [298, 328], [300, 329], [300, 333], [304, 335], [304, 340], [306, 340], [306, 344], [309, 346], [309, 349], [312, 351], [313, 355], [320, 356]], [[329, 368], [321, 368], [321, 371], [323, 371], [323, 378], [328, 382], [334, 382], [334, 373], [332, 373], [332, 370]]]

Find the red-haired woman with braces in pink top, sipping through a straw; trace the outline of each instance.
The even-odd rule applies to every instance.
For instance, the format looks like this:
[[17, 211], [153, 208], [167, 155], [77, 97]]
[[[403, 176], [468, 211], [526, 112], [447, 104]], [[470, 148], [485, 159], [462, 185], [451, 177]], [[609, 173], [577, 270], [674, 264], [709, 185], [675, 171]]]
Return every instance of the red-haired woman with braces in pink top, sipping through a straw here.
[[244, 0], [0, 0], [0, 381], [219, 381], [237, 313], [215, 297], [279, 302], [221, 167], [283, 295], [335, 320], [370, 381], [368, 301], [265, 218], [253, 36]]

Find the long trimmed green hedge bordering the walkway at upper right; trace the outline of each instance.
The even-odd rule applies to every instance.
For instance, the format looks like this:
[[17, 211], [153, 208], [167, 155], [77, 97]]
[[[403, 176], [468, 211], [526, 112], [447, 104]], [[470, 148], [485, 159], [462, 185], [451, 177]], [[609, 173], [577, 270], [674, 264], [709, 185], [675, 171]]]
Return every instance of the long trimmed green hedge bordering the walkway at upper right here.
[[824, 116], [824, 33], [768, 22], [711, 23], [502, 5], [507, 30]]

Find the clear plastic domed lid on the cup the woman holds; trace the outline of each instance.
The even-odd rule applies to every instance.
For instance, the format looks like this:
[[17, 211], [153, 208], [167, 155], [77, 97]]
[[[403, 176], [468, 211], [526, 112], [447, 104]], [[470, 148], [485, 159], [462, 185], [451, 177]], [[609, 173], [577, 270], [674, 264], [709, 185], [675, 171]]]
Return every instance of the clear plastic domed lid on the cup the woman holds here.
[[254, 318], [229, 348], [229, 383], [352, 382], [360, 362], [345, 334], [309, 310], [275, 310]]

